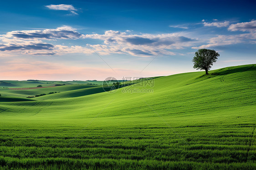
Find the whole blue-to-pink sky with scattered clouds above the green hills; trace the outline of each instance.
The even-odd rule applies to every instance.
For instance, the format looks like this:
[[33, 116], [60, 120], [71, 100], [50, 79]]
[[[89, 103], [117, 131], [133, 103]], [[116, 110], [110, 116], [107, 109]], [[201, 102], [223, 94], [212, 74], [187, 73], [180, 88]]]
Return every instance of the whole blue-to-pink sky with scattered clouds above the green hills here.
[[256, 63], [255, 0], [12, 0], [0, 5], [0, 80], [104, 80]]

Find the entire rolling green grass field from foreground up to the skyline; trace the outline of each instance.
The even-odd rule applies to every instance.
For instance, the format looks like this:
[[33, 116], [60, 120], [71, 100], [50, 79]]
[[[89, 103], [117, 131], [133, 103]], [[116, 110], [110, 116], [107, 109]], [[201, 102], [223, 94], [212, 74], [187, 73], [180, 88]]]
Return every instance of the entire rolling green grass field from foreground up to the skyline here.
[[1, 88], [0, 169], [255, 170], [256, 65], [204, 74]]

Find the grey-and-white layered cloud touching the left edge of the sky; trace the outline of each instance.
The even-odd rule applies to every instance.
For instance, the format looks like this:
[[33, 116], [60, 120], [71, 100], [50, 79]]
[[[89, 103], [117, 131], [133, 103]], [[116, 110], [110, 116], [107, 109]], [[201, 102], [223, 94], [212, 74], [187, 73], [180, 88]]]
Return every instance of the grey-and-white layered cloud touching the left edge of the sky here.
[[5, 53], [21, 53], [28, 55], [60, 55], [65, 53], [92, 54], [87, 46], [53, 45], [42, 40], [78, 39], [80, 33], [70, 26], [44, 30], [10, 31], [0, 35], [0, 51]]

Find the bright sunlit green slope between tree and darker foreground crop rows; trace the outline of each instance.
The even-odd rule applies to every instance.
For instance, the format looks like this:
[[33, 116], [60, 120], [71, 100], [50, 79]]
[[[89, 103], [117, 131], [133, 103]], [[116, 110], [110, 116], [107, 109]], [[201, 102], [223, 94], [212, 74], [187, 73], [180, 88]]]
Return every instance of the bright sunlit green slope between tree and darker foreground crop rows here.
[[[153, 87], [127, 86], [114, 93], [87, 95], [89, 91], [85, 90], [93, 89], [90, 88], [38, 97], [44, 101], [1, 102], [1, 109], [9, 108], [1, 115], [15, 114], [17, 119], [80, 120], [98, 113], [99, 117], [185, 116], [214, 112], [237, 113], [241, 110], [247, 110], [248, 114], [255, 113], [256, 65], [227, 67], [212, 70], [210, 75], [204, 74], [192, 72], [170, 75], [155, 79]], [[95, 92], [99, 90], [98, 87], [94, 88]], [[128, 93], [133, 88], [153, 89], [154, 92]], [[84, 96], [80, 96], [82, 92]], [[51, 96], [61, 99], [51, 100]], [[105, 107], [107, 109], [102, 111]]]

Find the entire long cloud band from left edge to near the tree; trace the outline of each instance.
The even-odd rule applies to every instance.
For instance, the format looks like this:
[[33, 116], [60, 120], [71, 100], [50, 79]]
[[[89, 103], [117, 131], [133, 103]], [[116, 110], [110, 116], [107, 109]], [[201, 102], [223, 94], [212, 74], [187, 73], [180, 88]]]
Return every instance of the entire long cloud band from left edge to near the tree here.
[[[58, 45], [49, 40], [98, 39], [102, 44], [96, 45]], [[48, 40], [47, 43], [44, 40]], [[72, 27], [62, 26], [56, 29], [17, 30], [0, 35], [0, 51], [28, 55], [62, 55], [70, 53], [100, 55], [129, 54], [147, 57], [153, 55], [175, 55], [171, 49], [183, 49], [196, 40], [179, 34], [132, 34], [108, 30], [104, 34], [82, 35]]]

